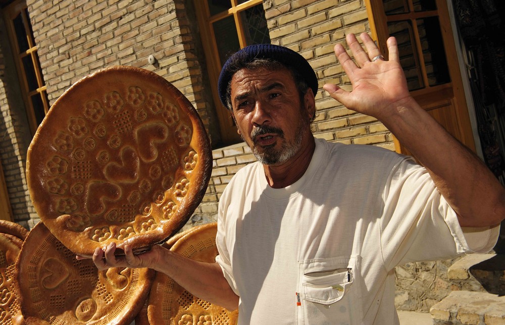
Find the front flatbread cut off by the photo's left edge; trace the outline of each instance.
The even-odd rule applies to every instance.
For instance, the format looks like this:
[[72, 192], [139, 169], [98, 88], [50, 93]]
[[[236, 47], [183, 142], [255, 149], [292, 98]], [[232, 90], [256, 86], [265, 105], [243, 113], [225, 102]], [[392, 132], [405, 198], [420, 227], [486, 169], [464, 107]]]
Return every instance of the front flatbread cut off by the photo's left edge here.
[[15, 268], [23, 241], [0, 234], [0, 324], [22, 324], [23, 316], [15, 290]]

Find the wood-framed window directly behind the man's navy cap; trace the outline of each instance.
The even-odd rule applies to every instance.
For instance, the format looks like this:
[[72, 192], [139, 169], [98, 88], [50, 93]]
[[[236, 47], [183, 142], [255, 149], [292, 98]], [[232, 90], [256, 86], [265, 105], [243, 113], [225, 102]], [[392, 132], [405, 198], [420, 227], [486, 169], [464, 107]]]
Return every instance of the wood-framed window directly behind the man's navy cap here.
[[219, 101], [217, 82], [228, 57], [251, 44], [270, 43], [262, 0], [195, 0], [201, 40], [207, 53], [209, 78], [223, 143], [237, 143], [233, 119]]

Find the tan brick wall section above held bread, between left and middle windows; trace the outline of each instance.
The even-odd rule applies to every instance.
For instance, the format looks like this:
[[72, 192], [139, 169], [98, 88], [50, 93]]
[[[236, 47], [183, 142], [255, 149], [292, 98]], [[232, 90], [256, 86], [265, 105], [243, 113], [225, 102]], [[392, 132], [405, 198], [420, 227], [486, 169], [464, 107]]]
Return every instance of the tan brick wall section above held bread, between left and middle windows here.
[[[80, 78], [104, 67], [129, 65], [174, 84], [209, 134], [217, 136], [202, 78], [200, 40], [185, 1], [28, 0], [28, 10], [51, 104]], [[148, 63], [149, 55], [156, 65]]]

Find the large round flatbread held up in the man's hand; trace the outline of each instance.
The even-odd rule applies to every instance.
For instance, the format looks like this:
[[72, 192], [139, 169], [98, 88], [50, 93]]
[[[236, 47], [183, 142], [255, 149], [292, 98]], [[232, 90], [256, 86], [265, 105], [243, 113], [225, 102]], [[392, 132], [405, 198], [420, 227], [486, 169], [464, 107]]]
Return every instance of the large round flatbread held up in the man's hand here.
[[212, 171], [196, 110], [167, 80], [116, 66], [70, 87], [40, 124], [27, 179], [40, 219], [71, 251], [141, 252], [187, 222]]

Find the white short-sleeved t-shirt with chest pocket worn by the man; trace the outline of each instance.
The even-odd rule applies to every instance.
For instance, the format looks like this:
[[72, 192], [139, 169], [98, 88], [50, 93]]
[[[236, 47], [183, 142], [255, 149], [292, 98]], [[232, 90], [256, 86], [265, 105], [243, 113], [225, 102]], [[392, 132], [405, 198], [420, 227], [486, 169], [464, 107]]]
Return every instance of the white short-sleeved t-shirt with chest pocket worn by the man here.
[[269, 187], [259, 163], [233, 177], [216, 261], [240, 297], [240, 324], [397, 324], [395, 266], [487, 252], [498, 233], [463, 230], [409, 157], [317, 139], [289, 187]]

